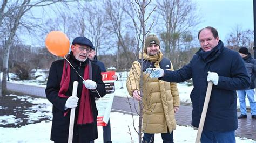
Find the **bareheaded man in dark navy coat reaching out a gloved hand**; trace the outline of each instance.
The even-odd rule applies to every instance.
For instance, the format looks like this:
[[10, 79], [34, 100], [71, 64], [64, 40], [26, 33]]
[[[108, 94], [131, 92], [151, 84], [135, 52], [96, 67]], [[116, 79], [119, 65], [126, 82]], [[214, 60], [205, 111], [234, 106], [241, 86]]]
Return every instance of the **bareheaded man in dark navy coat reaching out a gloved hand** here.
[[192, 78], [192, 126], [197, 128], [203, 111], [207, 81], [212, 81], [214, 85], [201, 142], [235, 142], [235, 130], [238, 127], [236, 90], [248, 88], [250, 77], [241, 56], [224, 47], [215, 28], [208, 26], [201, 29], [198, 39], [201, 48], [183, 68], [176, 71], [147, 69], [147, 72], [152, 78], [169, 82], [184, 82]]

